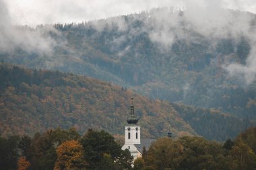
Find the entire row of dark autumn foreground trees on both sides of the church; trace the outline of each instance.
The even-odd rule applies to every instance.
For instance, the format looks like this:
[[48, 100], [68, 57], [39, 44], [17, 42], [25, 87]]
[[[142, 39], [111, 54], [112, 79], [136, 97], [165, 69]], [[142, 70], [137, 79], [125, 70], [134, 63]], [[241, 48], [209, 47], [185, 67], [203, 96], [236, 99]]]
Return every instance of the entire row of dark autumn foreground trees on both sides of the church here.
[[[158, 138], [142, 157], [129, 150], [104, 130], [80, 135], [74, 128], [46, 130], [32, 137], [0, 137], [0, 167], [29, 169], [238, 169], [256, 167], [256, 128], [249, 128], [234, 140], [215, 142], [198, 136]], [[133, 167], [131, 166], [133, 164]]]

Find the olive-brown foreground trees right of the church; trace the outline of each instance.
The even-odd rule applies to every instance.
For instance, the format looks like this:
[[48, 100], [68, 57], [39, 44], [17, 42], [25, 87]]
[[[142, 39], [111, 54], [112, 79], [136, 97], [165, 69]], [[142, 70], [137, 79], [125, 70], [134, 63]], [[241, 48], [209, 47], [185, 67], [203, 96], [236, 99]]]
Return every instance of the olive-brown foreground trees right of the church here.
[[135, 160], [135, 169], [247, 169], [256, 167], [256, 128], [218, 143], [200, 137], [159, 138]]

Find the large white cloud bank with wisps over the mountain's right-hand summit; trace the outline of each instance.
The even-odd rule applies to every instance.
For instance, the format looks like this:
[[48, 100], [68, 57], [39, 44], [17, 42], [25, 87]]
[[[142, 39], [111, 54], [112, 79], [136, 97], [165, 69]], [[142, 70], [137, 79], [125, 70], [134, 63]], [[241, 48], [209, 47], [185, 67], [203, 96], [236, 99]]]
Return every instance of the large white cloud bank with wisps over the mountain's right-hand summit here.
[[[239, 3], [239, 1], [238, 1]], [[241, 3], [241, 2], [240, 2]], [[229, 5], [229, 6], [228, 6]], [[136, 19], [142, 22], [142, 26], [129, 28], [123, 17], [115, 19], [104, 19], [104, 22], [92, 22], [97, 30], [118, 26], [120, 31], [129, 31], [128, 36], [115, 38], [112, 42], [113, 48], [125, 42], [125, 38], [137, 36], [146, 32], [150, 40], [159, 44], [160, 50], [168, 52], [176, 40], [185, 40], [186, 43], [203, 43], [199, 36], [211, 42], [209, 50], [216, 50], [216, 44], [222, 39], [232, 39], [234, 44], [241, 41], [241, 38], [249, 40], [251, 52], [245, 65], [238, 63], [225, 65], [225, 69], [232, 77], [245, 79], [247, 85], [255, 80], [256, 69], [256, 32], [253, 28], [255, 15], [245, 11], [236, 11], [236, 3], [229, 1], [181, 1], [179, 7], [154, 8], [142, 12]], [[234, 8], [226, 9], [225, 7]], [[197, 36], [199, 35], [199, 36]], [[225, 56], [223, 56], [225, 57]], [[226, 63], [225, 63], [226, 64]]]

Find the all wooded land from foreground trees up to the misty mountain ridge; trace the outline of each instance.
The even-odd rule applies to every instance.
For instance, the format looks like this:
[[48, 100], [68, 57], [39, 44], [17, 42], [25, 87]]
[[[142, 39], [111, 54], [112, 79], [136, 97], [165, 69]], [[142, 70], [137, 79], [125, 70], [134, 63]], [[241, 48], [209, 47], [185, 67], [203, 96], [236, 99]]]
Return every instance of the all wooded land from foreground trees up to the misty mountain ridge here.
[[[189, 12], [3, 22], [0, 169], [255, 169], [256, 15]], [[121, 150], [131, 98], [157, 139], [134, 167]]]

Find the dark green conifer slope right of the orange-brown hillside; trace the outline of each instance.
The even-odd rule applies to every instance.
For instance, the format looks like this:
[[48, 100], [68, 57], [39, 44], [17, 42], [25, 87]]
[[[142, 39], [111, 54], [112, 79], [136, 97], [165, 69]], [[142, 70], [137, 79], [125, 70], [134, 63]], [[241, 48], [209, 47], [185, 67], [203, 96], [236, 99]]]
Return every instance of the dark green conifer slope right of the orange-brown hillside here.
[[[219, 110], [194, 108], [184, 104], [172, 104], [185, 122], [201, 136], [208, 139], [223, 141], [228, 136], [236, 136], [237, 129], [255, 126], [255, 120], [241, 119]], [[223, 132], [224, 131], [224, 132]]]

